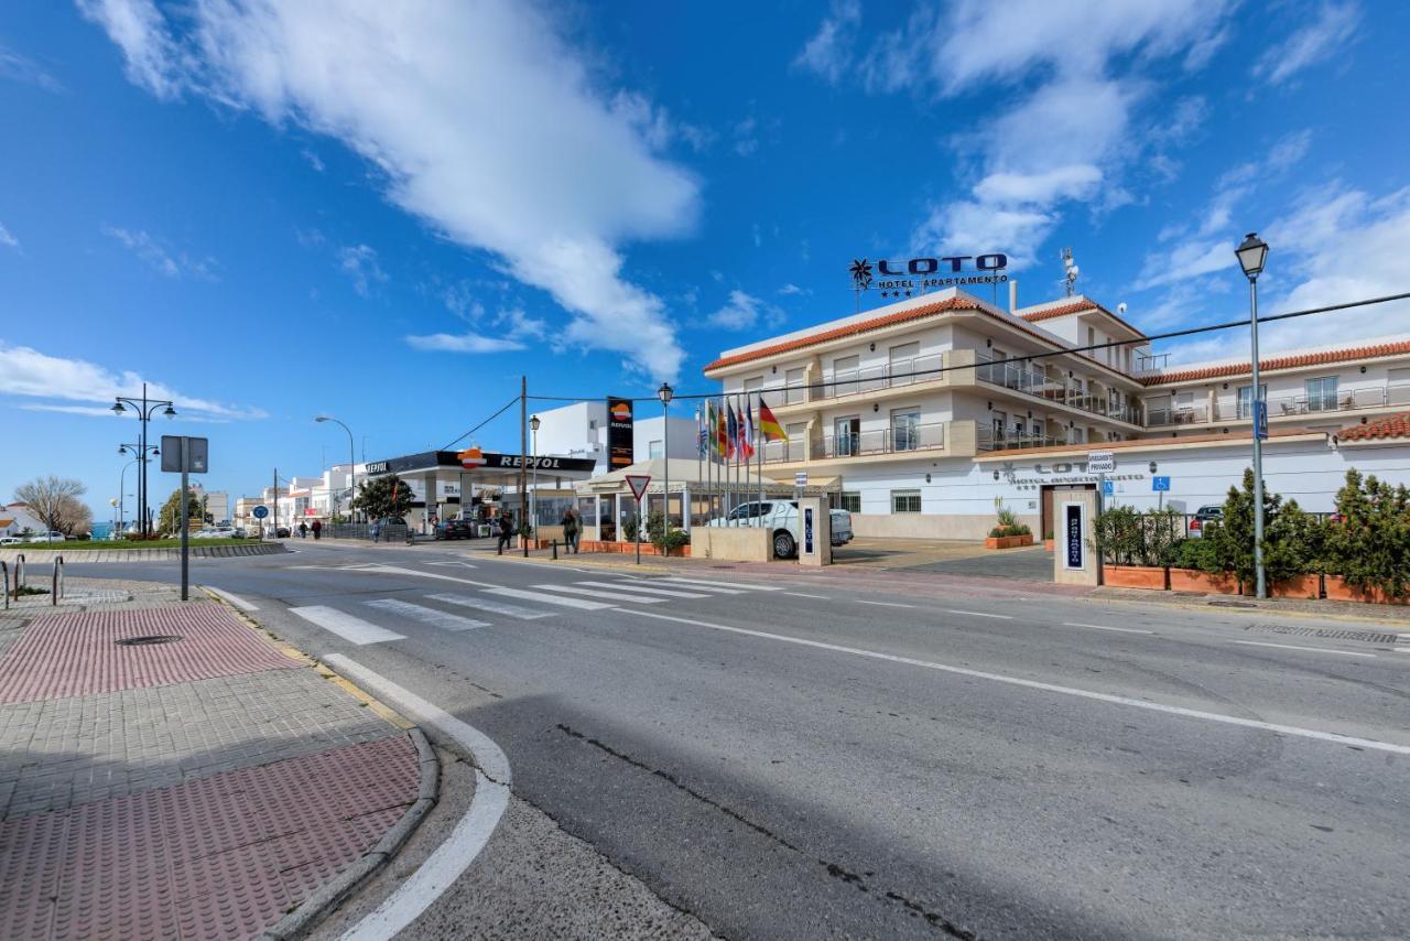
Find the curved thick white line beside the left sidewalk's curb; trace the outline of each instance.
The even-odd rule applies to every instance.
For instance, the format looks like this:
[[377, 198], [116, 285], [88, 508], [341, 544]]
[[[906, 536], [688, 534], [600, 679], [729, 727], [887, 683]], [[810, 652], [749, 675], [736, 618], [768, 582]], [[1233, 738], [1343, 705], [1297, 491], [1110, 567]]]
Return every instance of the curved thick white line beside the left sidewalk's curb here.
[[474, 725], [462, 722], [446, 710], [427, 703], [362, 664], [341, 653], [323, 657], [343, 676], [375, 693], [378, 698], [396, 707], [398, 711], [417, 722], [433, 725], [443, 735], [453, 738], [470, 752], [475, 769], [475, 794], [470, 810], [460, 818], [446, 841], [426, 858], [400, 886], [388, 896], [372, 914], [367, 916], [343, 935], [344, 941], [384, 941], [412, 924], [436, 901], [461, 873], [470, 868], [479, 851], [489, 842], [499, 818], [509, 807], [509, 759], [494, 741]]

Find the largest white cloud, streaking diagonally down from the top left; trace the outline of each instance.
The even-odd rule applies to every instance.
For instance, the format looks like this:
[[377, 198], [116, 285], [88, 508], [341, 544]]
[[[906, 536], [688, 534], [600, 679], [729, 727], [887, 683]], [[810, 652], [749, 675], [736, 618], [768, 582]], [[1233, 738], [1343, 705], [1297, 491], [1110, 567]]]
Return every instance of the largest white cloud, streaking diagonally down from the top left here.
[[619, 245], [688, 231], [698, 183], [653, 152], [640, 107], [603, 93], [539, 7], [197, 0], [179, 21], [149, 0], [85, 10], [158, 96], [179, 83], [343, 141], [395, 205], [553, 295], [571, 315], [565, 337], [677, 378], [666, 305], [625, 278]]

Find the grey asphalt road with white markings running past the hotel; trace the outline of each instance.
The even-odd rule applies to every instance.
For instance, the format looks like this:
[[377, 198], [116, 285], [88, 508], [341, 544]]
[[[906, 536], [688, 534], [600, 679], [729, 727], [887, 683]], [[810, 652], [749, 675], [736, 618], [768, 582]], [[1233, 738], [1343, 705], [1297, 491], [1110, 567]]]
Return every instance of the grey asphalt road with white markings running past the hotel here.
[[474, 724], [719, 935], [1410, 935], [1410, 645], [1375, 625], [299, 547], [192, 577]]

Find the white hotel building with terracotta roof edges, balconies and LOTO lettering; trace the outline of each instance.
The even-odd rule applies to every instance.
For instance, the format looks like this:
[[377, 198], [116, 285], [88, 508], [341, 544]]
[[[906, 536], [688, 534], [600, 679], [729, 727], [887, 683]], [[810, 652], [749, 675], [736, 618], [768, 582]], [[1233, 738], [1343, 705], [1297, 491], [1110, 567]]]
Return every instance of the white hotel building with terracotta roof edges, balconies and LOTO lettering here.
[[[1230, 333], [1230, 348], [1245, 343]], [[973, 539], [995, 501], [1045, 535], [1055, 491], [1096, 487], [1093, 450], [1117, 456], [1118, 504], [1222, 502], [1251, 464], [1251, 363], [1159, 364], [1089, 298], [1004, 310], [948, 289], [725, 350], [705, 375], [764, 394], [790, 437], [764, 449], [764, 473], [807, 471], [857, 535]], [[1410, 481], [1410, 334], [1261, 368], [1272, 491], [1325, 512], [1348, 467]]]

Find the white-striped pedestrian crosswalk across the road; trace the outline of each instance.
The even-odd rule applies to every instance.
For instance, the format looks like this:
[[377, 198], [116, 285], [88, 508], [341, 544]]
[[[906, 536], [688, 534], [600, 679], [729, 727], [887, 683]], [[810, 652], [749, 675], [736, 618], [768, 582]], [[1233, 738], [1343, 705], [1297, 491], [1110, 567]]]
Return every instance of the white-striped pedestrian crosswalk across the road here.
[[[474, 583], [472, 583], [474, 584]], [[482, 583], [481, 583], [482, 584]], [[541, 583], [525, 587], [485, 585], [478, 591], [446, 591], [405, 598], [369, 598], [364, 611], [389, 615], [384, 625], [326, 605], [290, 608], [300, 618], [330, 631], [355, 645], [386, 643], [406, 639], [413, 625], [426, 625], [448, 633], [462, 633], [492, 628], [503, 619], [539, 621], [567, 615], [571, 611], [611, 611], [632, 605], [682, 604], [694, 601], [723, 601], [732, 595], [753, 591], [781, 591], [776, 585], [750, 583], [708, 581], [701, 578], [582, 578], [571, 583]], [[474, 612], [474, 617], [446, 611], [451, 605]], [[396, 628], [389, 629], [389, 628]]]

